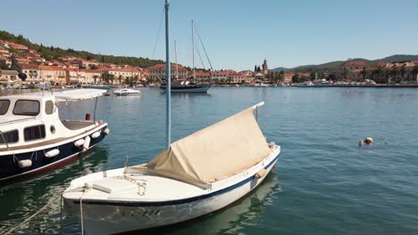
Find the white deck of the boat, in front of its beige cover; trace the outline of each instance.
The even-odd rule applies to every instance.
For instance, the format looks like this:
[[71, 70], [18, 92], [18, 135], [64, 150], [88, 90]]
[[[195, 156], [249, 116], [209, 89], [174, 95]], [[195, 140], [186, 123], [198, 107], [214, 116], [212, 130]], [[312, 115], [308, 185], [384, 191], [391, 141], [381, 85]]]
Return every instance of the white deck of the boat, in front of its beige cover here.
[[[82, 181], [71, 183], [65, 198], [79, 200], [82, 195], [83, 200], [163, 202], [187, 199], [208, 192], [170, 178], [146, 173], [123, 174], [123, 170], [124, 168], [120, 168], [81, 177], [78, 180]], [[89, 185], [85, 192], [79, 190], [79, 187], [84, 186], [82, 182]]]

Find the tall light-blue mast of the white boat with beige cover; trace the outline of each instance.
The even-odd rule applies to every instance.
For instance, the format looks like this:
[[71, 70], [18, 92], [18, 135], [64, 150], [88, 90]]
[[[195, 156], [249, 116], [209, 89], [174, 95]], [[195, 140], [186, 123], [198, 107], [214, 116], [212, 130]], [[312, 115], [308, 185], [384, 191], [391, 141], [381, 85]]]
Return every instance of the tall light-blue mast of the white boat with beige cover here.
[[171, 145], [171, 65], [170, 65], [170, 42], [169, 42], [169, 3], [165, 0], [165, 74], [167, 79], [166, 92], [166, 149], [170, 149]]

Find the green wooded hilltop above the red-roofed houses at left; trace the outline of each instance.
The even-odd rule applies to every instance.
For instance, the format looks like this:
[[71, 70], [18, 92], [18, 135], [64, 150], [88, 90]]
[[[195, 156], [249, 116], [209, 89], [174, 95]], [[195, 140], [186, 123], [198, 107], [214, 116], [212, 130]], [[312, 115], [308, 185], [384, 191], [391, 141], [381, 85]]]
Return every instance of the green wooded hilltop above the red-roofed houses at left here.
[[74, 49], [62, 49], [59, 47], [54, 46], [44, 46], [33, 44], [29, 41], [28, 38], [25, 38], [21, 35], [14, 36], [13, 34], [0, 30], [0, 40], [5, 40], [9, 42], [13, 42], [15, 44], [26, 45], [29, 49], [37, 51], [42, 57], [46, 60], [57, 59], [61, 56], [74, 56], [83, 58], [85, 60], [96, 60], [105, 63], [114, 63], [114, 64], [129, 64], [131, 66], [140, 66], [143, 68], [153, 66], [158, 63], [163, 63], [160, 60], [150, 60], [148, 58], [142, 57], [132, 57], [132, 56], [113, 56], [113, 55], [103, 55], [103, 54], [96, 54], [96, 53], [89, 53], [86, 51], [76, 51]]

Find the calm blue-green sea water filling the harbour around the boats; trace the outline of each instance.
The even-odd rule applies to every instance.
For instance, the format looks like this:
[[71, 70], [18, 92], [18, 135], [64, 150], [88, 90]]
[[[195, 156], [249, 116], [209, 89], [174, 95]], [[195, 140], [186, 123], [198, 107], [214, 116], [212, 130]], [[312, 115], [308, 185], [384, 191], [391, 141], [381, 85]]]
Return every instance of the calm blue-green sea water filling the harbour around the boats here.
[[[33, 215], [71, 179], [143, 163], [165, 146], [165, 96], [102, 97], [97, 117], [111, 134], [84, 158], [0, 188], [0, 232]], [[417, 234], [418, 90], [396, 88], [211, 88], [172, 95], [172, 141], [265, 101], [258, 120], [279, 163], [263, 184], [220, 212], [149, 234]], [[62, 104], [84, 118], [92, 101]], [[87, 111], [86, 111], [87, 110]], [[372, 145], [359, 148], [367, 136]], [[62, 226], [60, 227], [60, 224]], [[80, 233], [59, 200], [18, 233]]]

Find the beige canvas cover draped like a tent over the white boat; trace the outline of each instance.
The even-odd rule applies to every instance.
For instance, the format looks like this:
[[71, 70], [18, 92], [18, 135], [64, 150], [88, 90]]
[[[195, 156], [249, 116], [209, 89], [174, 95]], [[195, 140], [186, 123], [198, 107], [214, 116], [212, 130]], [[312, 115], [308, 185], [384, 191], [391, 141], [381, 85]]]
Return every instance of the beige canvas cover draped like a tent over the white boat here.
[[155, 174], [205, 185], [255, 166], [271, 151], [250, 108], [171, 143], [170, 150], [160, 152], [145, 167]]

